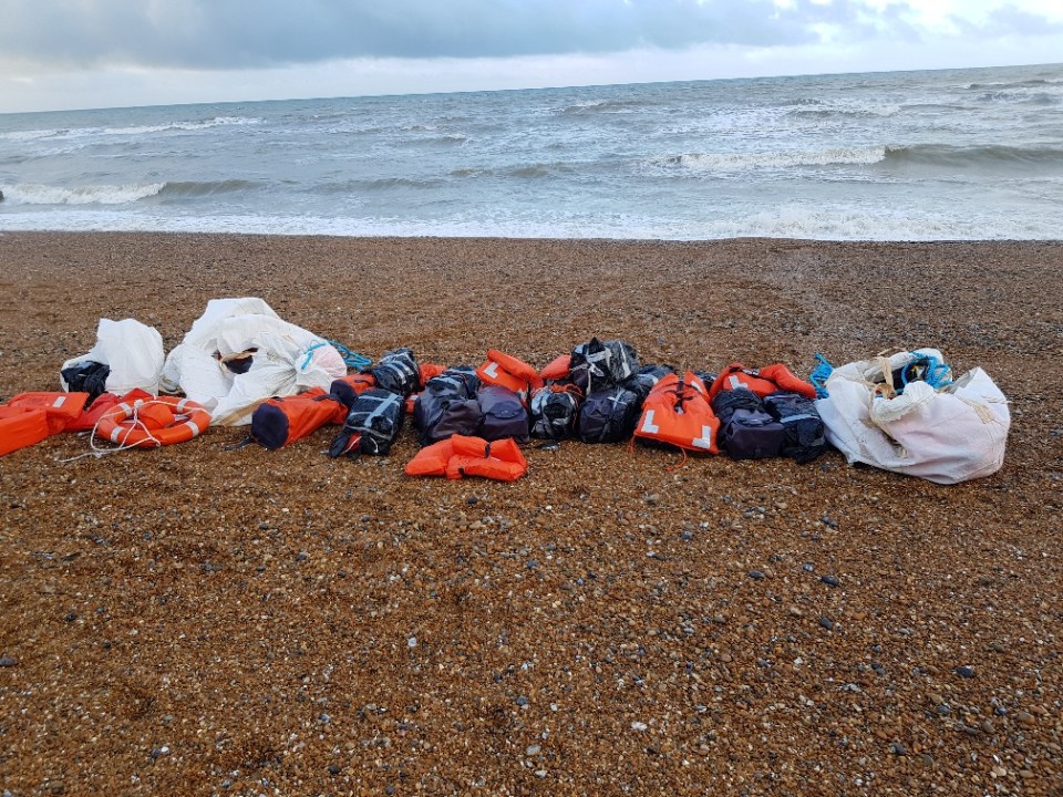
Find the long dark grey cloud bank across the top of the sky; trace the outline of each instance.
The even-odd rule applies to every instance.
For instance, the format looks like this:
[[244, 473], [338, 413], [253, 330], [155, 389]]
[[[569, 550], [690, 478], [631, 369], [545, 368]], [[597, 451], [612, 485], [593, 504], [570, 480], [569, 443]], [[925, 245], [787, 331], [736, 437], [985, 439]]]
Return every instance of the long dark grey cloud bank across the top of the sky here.
[[0, 0], [0, 53], [42, 65], [254, 68], [334, 58], [477, 58], [854, 40], [866, 7], [796, 0]]

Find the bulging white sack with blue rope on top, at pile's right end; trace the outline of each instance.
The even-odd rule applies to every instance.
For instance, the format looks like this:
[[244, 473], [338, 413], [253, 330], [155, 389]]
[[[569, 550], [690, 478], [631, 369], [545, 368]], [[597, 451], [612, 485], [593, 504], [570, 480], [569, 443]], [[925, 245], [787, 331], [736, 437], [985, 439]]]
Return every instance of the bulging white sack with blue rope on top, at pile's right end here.
[[999, 470], [1011, 427], [1004, 394], [980, 368], [938, 390], [911, 381], [896, 394], [890, 374], [917, 354], [942, 362], [938, 350], [918, 349], [835, 369], [825, 384], [828, 397], [816, 401], [827, 439], [849, 464], [938, 484]]

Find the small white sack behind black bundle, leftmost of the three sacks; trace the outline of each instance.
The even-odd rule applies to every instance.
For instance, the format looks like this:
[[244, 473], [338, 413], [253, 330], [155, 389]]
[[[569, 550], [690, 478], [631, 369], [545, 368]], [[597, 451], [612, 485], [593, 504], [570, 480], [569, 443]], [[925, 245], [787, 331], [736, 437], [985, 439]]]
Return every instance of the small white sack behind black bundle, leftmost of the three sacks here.
[[110, 369], [106, 383], [110, 393], [123, 395], [135, 387], [158, 393], [163, 376], [163, 337], [154, 327], [135, 319], [100, 319], [96, 344], [87, 354], [68, 360], [60, 369], [59, 381], [64, 391], [70, 387], [62, 371], [87, 362], [103, 363]]

